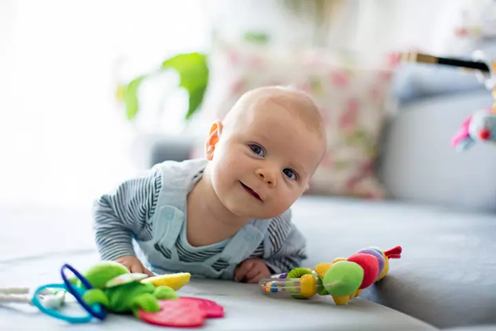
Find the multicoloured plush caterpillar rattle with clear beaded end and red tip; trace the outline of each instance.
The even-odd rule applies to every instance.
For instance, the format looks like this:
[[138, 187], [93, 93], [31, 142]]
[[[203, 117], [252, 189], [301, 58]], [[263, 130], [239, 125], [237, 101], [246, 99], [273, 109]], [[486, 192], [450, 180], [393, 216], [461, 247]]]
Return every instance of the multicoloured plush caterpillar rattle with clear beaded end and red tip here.
[[400, 259], [401, 246], [381, 250], [371, 246], [351, 257], [338, 257], [333, 263], [319, 263], [313, 268], [295, 268], [259, 282], [265, 293], [286, 292], [296, 299], [316, 294], [331, 295], [336, 305], [347, 305], [364, 288], [383, 279], [389, 272], [389, 259]]

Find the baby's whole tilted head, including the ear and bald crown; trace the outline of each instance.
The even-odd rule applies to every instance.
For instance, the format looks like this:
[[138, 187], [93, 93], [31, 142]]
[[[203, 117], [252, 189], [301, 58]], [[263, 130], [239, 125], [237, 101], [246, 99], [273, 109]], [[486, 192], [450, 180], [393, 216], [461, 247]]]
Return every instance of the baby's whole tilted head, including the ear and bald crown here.
[[306, 94], [257, 88], [212, 125], [205, 146], [209, 179], [234, 214], [276, 217], [307, 190], [326, 145], [320, 112]]

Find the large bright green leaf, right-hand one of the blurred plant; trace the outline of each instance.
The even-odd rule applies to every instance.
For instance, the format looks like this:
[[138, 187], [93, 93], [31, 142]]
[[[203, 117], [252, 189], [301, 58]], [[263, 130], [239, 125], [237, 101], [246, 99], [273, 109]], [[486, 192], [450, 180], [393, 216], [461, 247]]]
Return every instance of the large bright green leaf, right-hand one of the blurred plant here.
[[179, 86], [187, 90], [189, 94], [189, 106], [185, 116], [189, 119], [203, 102], [205, 90], [207, 90], [209, 77], [207, 56], [197, 52], [178, 54], [162, 63], [163, 70], [168, 68], [173, 68], [178, 72]]

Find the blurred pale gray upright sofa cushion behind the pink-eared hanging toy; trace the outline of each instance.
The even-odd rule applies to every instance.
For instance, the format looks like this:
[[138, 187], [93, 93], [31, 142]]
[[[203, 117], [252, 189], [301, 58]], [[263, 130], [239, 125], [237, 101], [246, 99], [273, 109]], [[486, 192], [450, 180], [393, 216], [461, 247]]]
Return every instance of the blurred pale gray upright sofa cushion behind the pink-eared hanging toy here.
[[393, 197], [470, 210], [496, 211], [496, 146], [456, 152], [462, 121], [493, 104], [479, 90], [409, 103], [386, 132], [380, 176]]

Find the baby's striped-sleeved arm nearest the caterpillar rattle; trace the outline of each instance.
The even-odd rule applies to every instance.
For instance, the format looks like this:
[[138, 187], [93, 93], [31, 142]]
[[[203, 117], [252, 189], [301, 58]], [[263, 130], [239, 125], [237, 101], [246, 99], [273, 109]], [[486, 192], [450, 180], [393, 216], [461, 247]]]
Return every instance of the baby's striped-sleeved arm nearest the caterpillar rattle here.
[[291, 210], [271, 221], [264, 244], [271, 248], [264, 261], [272, 273], [289, 272], [307, 259], [307, 243], [291, 222]]

